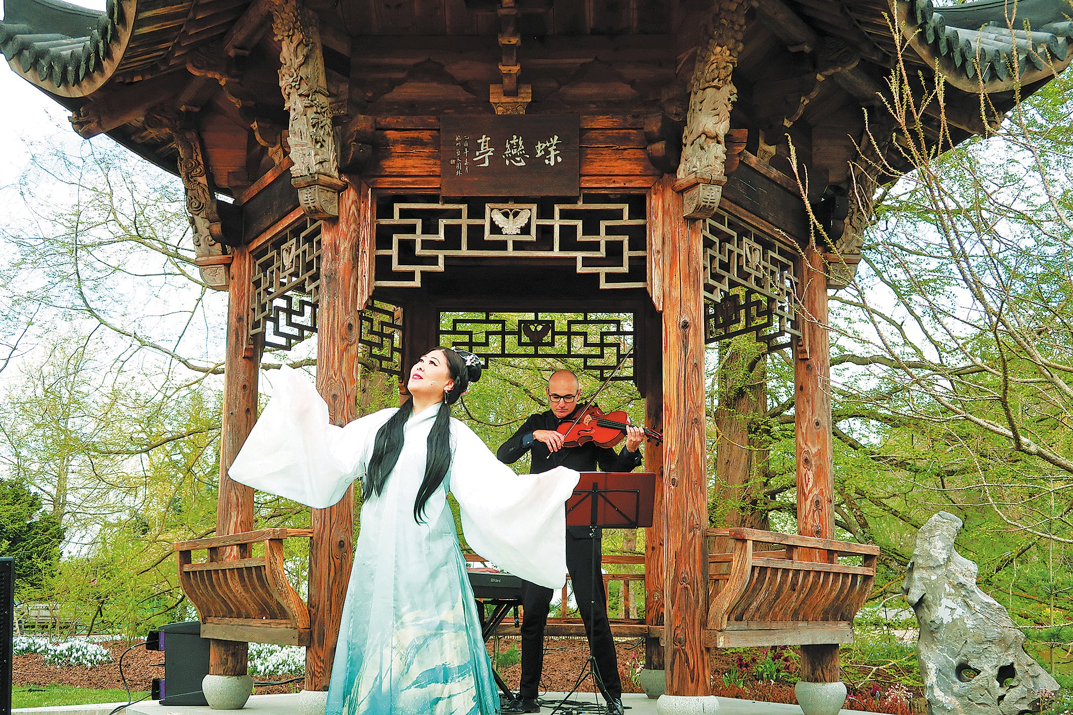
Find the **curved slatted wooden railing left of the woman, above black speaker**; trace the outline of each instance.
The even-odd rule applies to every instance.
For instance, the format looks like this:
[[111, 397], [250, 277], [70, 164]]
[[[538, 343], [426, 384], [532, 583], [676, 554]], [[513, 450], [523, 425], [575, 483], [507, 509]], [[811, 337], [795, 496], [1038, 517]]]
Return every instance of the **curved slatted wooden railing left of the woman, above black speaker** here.
[[[179, 583], [197, 609], [202, 637], [308, 645], [309, 609], [286, 580], [283, 539], [312, 535], [309, 528], [261, 528], [176, 543]], [[262, 555], [253, 555], [254, 545], [263, 545]], [[208, 558], [194, 563], [199, 550]]]

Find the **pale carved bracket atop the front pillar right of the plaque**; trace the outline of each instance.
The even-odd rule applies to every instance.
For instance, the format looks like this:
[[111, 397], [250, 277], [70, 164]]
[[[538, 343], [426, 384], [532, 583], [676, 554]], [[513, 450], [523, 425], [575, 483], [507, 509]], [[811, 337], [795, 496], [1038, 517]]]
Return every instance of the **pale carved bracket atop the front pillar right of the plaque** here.
[[712, 215], [722, 196], [725, 137], [737, 100], [732, 73], [741, 49], [747, 8], [746, 0], [716, 2], [697, 47], [678, 165], [679, 183], [689, 184], [682, 196], [689, 219]]

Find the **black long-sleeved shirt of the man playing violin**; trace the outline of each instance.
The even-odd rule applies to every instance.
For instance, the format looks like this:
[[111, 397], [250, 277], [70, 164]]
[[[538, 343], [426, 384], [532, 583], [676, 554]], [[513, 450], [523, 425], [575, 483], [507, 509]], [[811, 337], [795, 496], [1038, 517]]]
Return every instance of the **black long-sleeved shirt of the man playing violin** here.
[[[547, 445], [533, 438], [533, 432], [536, 430], [554, 430], [562, 422], [572, 421], [580, 405], [562, 419], [556, 417], [550, 409], [539, 415], [530, 415], [514, 436], [496, 451], [496, 458], [504, 464], [514, 464], [527, 451], [532, 451], [530, 468], [533, 474], [547, 472], [557, 466], [578, 472], [632, 472], [641, 464], [641, 452], [631, 452], [626, 447], [616, 455], [609, 447], [599, 447], [587, 442], [579, 447], [563, 447], [553, 455], [548, 451]], [[567, 532], [572, 536], [588, 536], [586, 526], [568, 526]]]

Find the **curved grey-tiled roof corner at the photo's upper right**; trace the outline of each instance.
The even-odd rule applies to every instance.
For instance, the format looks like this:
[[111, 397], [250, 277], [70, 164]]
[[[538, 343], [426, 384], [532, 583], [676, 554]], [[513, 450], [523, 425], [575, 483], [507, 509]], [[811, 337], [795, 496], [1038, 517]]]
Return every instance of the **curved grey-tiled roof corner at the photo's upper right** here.
[[928, 63], [969, 91], [1001, 91], [1053, 76], [1073, 59], [1073, 6], [1064, 0], [982, 0], [937, 8], [899, 0], [897, 19]]

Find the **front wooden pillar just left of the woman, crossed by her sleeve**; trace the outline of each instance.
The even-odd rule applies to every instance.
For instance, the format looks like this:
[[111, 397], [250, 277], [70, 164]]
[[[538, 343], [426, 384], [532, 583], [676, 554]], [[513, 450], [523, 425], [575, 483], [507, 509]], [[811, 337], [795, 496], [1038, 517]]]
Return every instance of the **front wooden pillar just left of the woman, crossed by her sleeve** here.
[[[363, 221], [353, 183], [339, 195], [339, 218], [321, 224], [321, 286], [317, 309], [317, 390], [333, 424], [357, 417], [358, 233]], [[354, 558], [354, 488], [338, 504], [313, 509], [309, 548], [307, 690], [326, 690]]]

